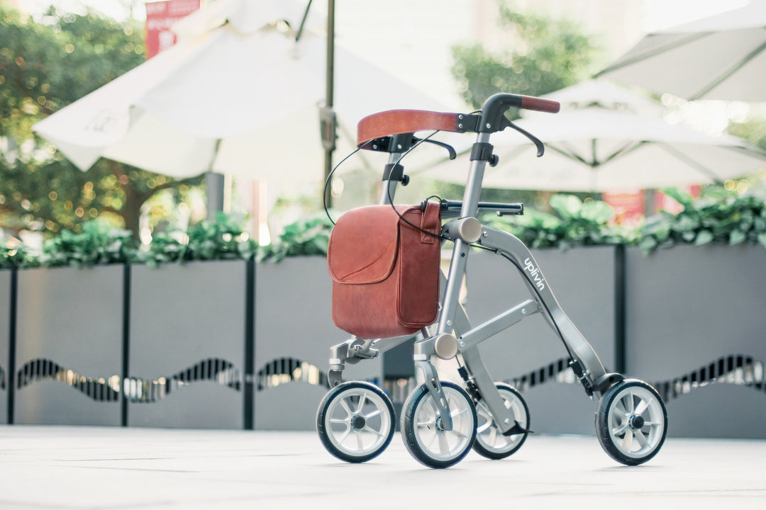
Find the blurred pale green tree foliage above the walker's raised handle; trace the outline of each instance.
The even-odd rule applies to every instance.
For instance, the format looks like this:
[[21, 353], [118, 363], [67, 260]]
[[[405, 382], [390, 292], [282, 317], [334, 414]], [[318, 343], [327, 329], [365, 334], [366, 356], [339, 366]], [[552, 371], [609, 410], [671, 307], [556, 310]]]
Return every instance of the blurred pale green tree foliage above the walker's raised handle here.
[[591, 75], [597, 47], [574, 21], [516, 11], [499, 0], [499, 26], [507, 50], [491, 52], [480, 44], [453, 47], [453, 76], [460, 93], [479, 108], [494, 93], [541, 96]]

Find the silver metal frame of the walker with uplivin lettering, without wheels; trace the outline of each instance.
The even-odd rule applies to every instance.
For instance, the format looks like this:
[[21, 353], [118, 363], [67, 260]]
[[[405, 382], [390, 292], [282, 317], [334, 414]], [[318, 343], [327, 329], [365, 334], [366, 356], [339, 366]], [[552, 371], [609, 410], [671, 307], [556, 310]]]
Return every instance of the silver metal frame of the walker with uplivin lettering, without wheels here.
[[[489, 135], [490, 133], [478, 133], [476, 143], [489, 143]], [[398, 163], [400, 157], [401, 153], [391, 153], [388, 158], [389, 164]], [[451, 430], [452, 420], [447, 399], [444, 397], [437, 369], [430, 360], [437, 356], [436, 339], [444, 335], [453, 335], [457, 343], [457, 353], [463, 358], [466, 367], [466, 382], [476, 388], [477, 395], [474, 395], [474, 398], [481, 398], [486, 403], [502, 433], [516, 434], [519, 432], [519, 423], [516, 421], [512, 410], [506, 408], [502, 401], [495, 381], [481, 359], [478, 346], [484, 340], [519, 323], [526, 317], [542, 313], [548, 326], [564, 343], [571, 358], [571, 368], [591, 397], [594, 393], [603, 394], [611, 385], [623, 380], [624, 377], [620, 374], [607, 373], [604, 369], [604, 365], [593, 347], [559, 306], [548, 281], [545, 280], [527, 246], [508, 232], [487, 226], [482, 226], [481, 237], [475, 244], [506, 258], [524, 277], [523, 281], [529, 288], [532, 299], [510, 307], [479, 326], [471, 326], [466, 310], [460, 304], [460, 290], [463, 277], [466, 274], [466, 264], [473, 239], [460, 239], [459, 234], [453, 234], [453, 232], [460, 232], [460, 229], [454, 228], [457, 221], [478, 216], [486, 163], [482, 160], [471, 161], [460, 216], [458, 219], [445, 223], [442, 228], [442, 235], [454, 243], [450, 268], [446, 276], [441, 275], [443, 295], [435, 332], [424, 328], [414, 336], [416, 339], [414, 363], [415, 367], [421, 371], [428, 391], [434, 396], [434, 402], [437, 404], [437, 411], [440, 415], [440, 428]], [[391, 203], [397, 185], [398, 182], [395, 180], [385, 181], [379, 203]], [[381, 352], [393, 349], [411, 338], [413, 336], [400, 336], [391, 339], [358, 339], [352, 336], [344, 343], [333, 346], [330, 354], [330, 384], [335, 386], [342, 382], [345, 362], [355, 363], [360, 359], [374, 358]]]

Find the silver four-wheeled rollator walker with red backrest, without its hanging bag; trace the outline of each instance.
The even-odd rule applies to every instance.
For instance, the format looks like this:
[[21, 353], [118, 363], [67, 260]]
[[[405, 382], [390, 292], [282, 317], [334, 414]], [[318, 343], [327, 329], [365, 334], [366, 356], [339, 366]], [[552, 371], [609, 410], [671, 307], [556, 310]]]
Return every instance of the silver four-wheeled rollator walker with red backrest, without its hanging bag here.
[[[596, 434], [606, 453], [619, 463], [647, 462], [662, 447], [667, 413], [659, 393], [646, 382], [607, 372], [596, 352], [561, 310], [548, 281], [524, 243], [508, 232], [480, 223], [480, 213], [523, 213], [522, 204], [483, 203], [480, 192], [486, 165], [497, 157], [489, 143], [493, 133], [513, 128], [531, 140], [542, 156], [542, 142], [514, 125], [506, 112], [512, 108], [558, 112], [558, 102], [529, 96], [496, 94], [471, 114], [391, 110], [369, 115], [358, 123], [357, 146], [388, 152], [381, 204], [391, 207], [394, 191], [407, 177], [399, 164], [404, 154], [426, 139], [416, 132], [476, 133], [462, 201], [440, 200], [440, 238], [453, 243], [447, 274], [440, 275], [437, 320], [415, 335], [414, 365], [421, 378], [404, 401], [401, 436], [412, 456], [425, 466], [446, 468], [460, 462], [473, 448], [489, 459], [515, 453], [529, 434], [529, 409], [516, 388], [495, 382], [481, 359], [479, 345], [489, 337], [537, 313], [545, 317], [564, 344], [569, 367], [584, 391], [598, 399]], [[434, 142], [444, 145], [440, 142]], [[454, 158], [454, 151], [450, 157]], [[421, 204], [425, 208], [426, 202]], [[530, 299], [478, 325], [470, 323], [460, 304], [460, 291], [471, 248], [495, 252], [522, 275]], [[437, 269], [438, 271], [438, 269]], [[362, 463], [378, 456], [394, 435], [394, 408], [385, 391], [370, 382], [343, 382], [345, 364], [372, 359], [412, 336], [350, 339], [330, 349], [331, 389], [319, 404], [316, 426], [333, 456]], [[435, 359], [462, 361], [463, 384], [442, 381]]]

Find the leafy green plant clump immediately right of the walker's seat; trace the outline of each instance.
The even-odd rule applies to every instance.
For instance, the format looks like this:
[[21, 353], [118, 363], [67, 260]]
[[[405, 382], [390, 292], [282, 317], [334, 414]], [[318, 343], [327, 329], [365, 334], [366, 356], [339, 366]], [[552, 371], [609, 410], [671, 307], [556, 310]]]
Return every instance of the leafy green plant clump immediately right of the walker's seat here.
[[[484, 220], [505, 229], [531, 248], [570, 249], [575, 246], [633, 244], [637, 232], [610, 225], [612, 207], [601, 200], [580, 200], [574, 195], [558, 194], [550, 204], [556, 214], [526, 210], [523, 216], [504, 216]], [[508, 218], [508, 219], [506, 219]]]

